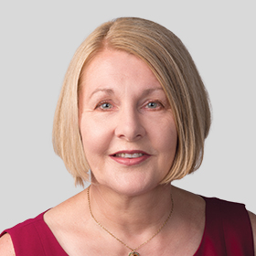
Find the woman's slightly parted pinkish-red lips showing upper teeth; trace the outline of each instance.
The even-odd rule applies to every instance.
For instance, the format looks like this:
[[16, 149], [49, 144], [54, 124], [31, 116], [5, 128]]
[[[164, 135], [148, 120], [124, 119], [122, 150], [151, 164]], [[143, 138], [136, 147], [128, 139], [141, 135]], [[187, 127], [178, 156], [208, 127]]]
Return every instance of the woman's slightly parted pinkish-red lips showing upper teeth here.
[[139, 165], [151, 155], [148, 155], [144, 151], [120, 151], [110, 156], [121, 165]]

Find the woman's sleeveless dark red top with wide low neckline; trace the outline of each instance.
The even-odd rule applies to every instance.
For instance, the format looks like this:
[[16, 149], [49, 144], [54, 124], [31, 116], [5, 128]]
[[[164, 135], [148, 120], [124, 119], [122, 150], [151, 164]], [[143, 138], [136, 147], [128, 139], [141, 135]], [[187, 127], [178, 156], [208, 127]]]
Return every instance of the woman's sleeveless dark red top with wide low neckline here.
[[[203, 198], [206, 200], [206, 225], [194, 256], [253, 256], [251, 221], [244, 205]], [[43, 216], [44, 213], [35, 219], [27, 219], [0, 235], [10, 234], [16, 256], [68, 256]]]

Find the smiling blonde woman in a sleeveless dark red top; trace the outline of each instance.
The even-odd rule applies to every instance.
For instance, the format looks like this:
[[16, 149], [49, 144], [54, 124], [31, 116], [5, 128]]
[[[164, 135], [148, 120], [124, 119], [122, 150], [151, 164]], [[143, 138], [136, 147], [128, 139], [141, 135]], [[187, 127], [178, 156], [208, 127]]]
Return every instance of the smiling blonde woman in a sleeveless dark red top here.
[[71, 60], [53, 129], [76, 184], [91, 170], [91, 186], [5, 230], [0, 255], [254, 255], [243, 205], [171, 186], [201, 164], [209, 127], [208, 93], [172, 32], [140, 18], [96, 28]]

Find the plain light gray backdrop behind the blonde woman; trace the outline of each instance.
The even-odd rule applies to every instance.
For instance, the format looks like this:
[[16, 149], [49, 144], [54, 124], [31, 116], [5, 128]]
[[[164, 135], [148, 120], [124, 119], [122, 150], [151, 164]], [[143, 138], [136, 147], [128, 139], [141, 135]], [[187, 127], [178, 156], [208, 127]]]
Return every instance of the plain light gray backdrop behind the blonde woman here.
[[53, 115], [76, 48], [118, 16], [144, 17], [172, 30], [208, 88], [213, 125], [205, 160], [194, 175], [173, 184], [256, 212], [254, 1], [149, 2], [1, 2], [0, 230], [81, 191], [53, 152]]

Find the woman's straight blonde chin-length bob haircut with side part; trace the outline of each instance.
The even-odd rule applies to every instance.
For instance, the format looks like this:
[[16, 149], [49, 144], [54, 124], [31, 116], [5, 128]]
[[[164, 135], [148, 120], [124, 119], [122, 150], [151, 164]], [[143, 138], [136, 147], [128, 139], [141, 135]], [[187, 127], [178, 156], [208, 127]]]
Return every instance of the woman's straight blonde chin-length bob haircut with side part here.
[[181, 40], [155, 22], [121, 17], [97, 27], [77, 49], [69, 64], [54, 117], [53, 147], [83, 186], [90, 169], [79, 127], [80, 77], [86, 65], [104, 48], [123, 50], [143, 59], [163, 86], [174, 113], [177, 148], [173, 165], [161, 184], [197, 170], [211, 123], [208, 92]]

